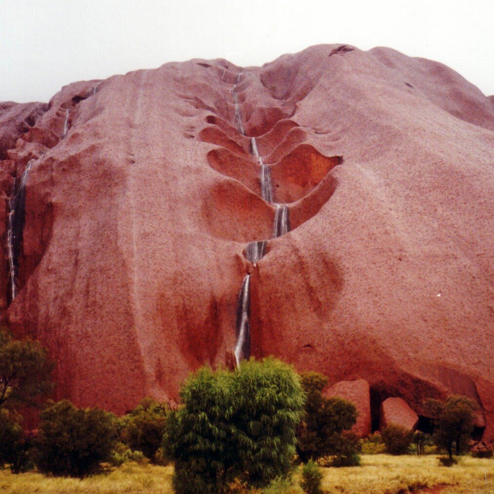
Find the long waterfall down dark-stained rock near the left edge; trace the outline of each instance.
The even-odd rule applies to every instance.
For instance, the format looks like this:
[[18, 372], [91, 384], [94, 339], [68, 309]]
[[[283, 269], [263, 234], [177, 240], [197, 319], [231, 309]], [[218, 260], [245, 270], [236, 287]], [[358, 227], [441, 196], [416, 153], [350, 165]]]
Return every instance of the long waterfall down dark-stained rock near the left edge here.
[[19, 264], [19, 254], [21, 250], [22, 231], [24, 229], [26, 182], [28, 180], [29, 170], [33, 165], [33, 161], [34, 160], [30, 160], [28, 162], [20, 180], [14, 180], [12, 194], [9, 199], [10, 212], [8, 213], [7, 251], [10, 278], [10, 303], [12, 303], [17, 295], [16, 277]]

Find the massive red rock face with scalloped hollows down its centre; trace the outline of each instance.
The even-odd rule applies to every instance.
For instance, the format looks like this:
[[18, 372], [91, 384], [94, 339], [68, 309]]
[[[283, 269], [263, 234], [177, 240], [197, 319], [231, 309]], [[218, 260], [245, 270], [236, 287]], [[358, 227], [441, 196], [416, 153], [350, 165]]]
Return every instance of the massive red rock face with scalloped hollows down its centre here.
[[[465, 394], [494, 438], [494, 105], [451, 69], [320, 45], [260, 68], [168, 63], [15, 108], [0, 114], [1, 307], [49, 348], [58, 398], [124, 412], [231, 365], [250, 273], [252, 355], [367, 380], [374, 422], [389, 397], [420, 415], [426, 397]], [[28, 163], [6, 309], [8, 197]], [[274, 203], [291, 228], [276, 239]]]

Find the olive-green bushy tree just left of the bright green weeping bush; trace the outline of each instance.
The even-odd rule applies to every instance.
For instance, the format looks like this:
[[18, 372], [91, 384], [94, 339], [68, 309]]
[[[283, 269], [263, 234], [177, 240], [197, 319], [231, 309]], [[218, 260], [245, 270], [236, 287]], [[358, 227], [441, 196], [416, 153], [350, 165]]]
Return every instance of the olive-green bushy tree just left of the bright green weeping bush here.
[[131, 450], [140, 451], [151, 461], [161, 448], [169, 407], [151, 398], [144, 398], [139, 405], [121, 418], [121, 440]]

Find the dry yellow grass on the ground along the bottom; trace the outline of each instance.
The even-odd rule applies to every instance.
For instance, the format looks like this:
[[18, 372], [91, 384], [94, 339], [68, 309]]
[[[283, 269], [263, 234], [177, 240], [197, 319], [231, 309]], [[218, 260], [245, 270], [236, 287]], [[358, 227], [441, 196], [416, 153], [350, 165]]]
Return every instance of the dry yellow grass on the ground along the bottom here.
[[[172, 493], [171, 466], [126, 463], [111, 473], [95, 475], [84, 480], [50, 478], [38, 473], [11, 475], [0, 470], [0, 493]], [[295, 485], [298, 476], [294, 478]], [[301, 493], [297, 487], [287, 493]], [[434, 491], [425, 488], [438, 487]], [[464, 456], [453, 467], [441, 467], [436, 455], [390, 456], [366, 454], [362, 466], [325, 468], [323, 490], [343, 494], [405, 494], [434, 492], [441, 494], [494, 493], [494, 460]], [[270, 490], [271, 494], [283, 491]]]

